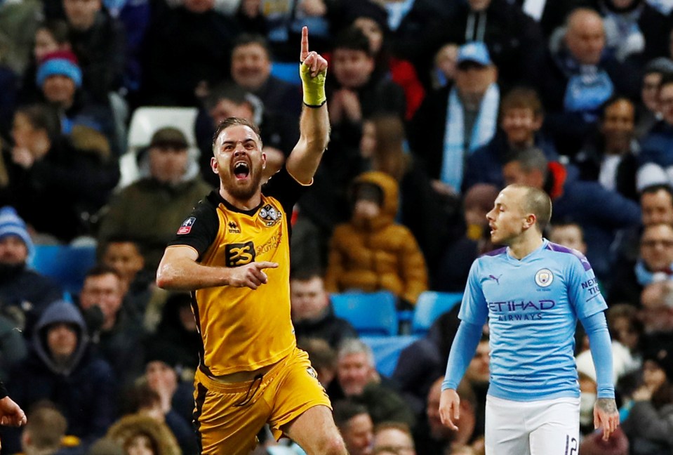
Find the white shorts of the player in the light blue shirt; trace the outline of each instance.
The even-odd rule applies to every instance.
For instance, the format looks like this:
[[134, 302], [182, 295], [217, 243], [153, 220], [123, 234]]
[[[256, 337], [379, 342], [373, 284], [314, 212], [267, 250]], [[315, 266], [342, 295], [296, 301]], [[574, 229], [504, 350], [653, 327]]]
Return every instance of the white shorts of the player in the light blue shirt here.
[[486, 455], [578, 455], [580, 399], [486, 397]]

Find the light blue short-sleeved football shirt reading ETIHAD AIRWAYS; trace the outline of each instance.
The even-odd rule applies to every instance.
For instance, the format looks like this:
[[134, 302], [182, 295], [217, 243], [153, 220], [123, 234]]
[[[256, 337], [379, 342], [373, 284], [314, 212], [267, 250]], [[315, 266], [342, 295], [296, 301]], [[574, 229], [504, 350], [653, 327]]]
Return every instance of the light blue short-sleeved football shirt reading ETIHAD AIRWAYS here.
[[474, 261], [460, 319], [490, 328], [488, 393], [506, 400], [579, 397], [575, 327], [606, 310], [579, 251], [543, 239], [520, 261], [502, 248]]

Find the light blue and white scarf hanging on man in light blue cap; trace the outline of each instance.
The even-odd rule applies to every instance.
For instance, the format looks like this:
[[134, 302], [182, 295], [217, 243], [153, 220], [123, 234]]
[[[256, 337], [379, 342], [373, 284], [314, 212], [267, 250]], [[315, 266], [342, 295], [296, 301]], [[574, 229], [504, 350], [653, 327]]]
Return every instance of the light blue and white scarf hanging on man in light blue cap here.
[[472, 127], [472, 136], [469, 139], [467, 150], [465, 147], [465, 125], [462, 115], [462, 103], [456, 88], [451, 88], [448, 94], [446, 110], [446, 128], [444, 128], [444, 155], [441, 160], [440, 179], [450, 185], [456, 192], [460, 192], [462, 172], [465, 164], [465, 152], [472, 153], [495, 135], [498, 126], [498, 107], [500, 105], [500, 88], [498, 84], [491, 84], [481, 98], [479, 114]]

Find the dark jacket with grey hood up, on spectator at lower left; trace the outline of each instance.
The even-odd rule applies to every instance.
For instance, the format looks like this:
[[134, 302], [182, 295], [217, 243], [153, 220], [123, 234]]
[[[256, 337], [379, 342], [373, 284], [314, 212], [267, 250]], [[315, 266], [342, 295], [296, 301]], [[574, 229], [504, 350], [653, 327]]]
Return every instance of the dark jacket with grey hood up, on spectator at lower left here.
[[[46, 336], [51, 324], [71, 324], [77, 345], [69, 362], [57, 364], [49, 354]], [[56, 301], [49, 305], [35, 326], [28, 357], [11, 375], [12, 398], [25, 409], [49, 400], [67, 418], [69, 435], [85, 443], [105, 435], [114, 413], [114, 378], [109, 364], [89, 349], [86, 325], [72, 303]], [[7, 453], [20, 451], [20, 429], [3, 433], [2, 447]]]

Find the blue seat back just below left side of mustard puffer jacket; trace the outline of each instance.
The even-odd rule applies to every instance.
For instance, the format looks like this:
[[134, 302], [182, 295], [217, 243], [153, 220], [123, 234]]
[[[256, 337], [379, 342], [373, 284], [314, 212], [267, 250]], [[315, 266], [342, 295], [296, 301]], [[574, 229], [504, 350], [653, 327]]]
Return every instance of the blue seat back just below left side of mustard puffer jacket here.
[[335, 315], [350, 322], [360, 335], [397, 335], [396, 300], [388, 291], [331, 295]]

